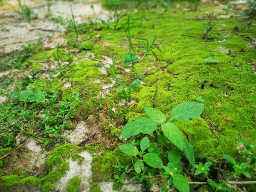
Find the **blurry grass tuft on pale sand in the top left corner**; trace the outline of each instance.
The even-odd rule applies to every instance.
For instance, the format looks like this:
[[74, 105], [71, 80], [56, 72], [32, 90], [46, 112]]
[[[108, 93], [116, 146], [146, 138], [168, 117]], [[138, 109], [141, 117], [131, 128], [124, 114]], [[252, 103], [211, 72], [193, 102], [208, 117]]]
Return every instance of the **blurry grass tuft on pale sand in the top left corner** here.
[[19, 9], [15, 9], [15, 12], [20, 16], [21, 20], [30, 21], [37, 19], [37, 14], [35, 14], [26, 4], [22, 4], [21, 0], [17, 0]]

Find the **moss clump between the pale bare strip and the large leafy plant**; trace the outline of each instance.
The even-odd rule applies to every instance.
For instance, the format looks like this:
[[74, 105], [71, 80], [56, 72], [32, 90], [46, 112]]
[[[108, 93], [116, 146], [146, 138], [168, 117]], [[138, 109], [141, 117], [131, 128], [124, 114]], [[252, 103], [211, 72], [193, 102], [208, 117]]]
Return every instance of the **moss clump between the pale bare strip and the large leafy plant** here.
[[112, 165], [117, 161], [122, 165], [131, 163], [131, 159], [127, 155], [123, 154], [119, 148], [115, 148], [113, 151], [104, 151], [102, 154], [94, 156], [91, 168], [93, 181], [110, 179], [114, 172]]

